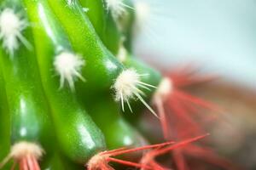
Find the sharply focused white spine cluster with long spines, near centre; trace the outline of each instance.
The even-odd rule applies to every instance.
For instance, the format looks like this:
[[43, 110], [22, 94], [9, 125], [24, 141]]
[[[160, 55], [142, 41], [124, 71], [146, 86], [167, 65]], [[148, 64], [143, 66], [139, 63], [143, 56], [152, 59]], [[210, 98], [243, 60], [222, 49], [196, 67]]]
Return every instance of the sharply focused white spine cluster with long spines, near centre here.
[[134, 69], [127, 69], [122, 71], [113, 84], [113, 88], [115, 90], [115, 99], [121, 102], [122, 110], [125, 111], [124, 103], [126, 102], [129, 109], [131, 110], [129, 99], [137, 98], [143, 103], [143, 105], [148, 108], [149, 111], [154, 114], [154, 116], [157, 116], [154, 110], [143, 99], [143, 91], [139, 89], [145, 88], [150, 90], [150, 88], [155, 87], [148, 83], [141, 82], [140, 77], [142, 76], [145, 75], [138, 74]]

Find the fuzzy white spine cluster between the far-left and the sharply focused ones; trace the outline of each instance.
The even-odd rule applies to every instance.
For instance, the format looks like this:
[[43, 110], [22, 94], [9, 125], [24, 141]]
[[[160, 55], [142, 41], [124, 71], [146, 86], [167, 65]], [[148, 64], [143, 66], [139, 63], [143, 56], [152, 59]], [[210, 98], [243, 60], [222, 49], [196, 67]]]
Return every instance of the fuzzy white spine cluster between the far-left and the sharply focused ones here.
[[80, 74], [84, 65], [84, 59], [77, 54], [62, 52], [56, 55], [54, 66], [56, 73], [60, 76], [60, 88], [63, 88], [65, 80], [72, 90], [74, 90], [74, 81], [76, 78], [85, 81], [84, 77]]

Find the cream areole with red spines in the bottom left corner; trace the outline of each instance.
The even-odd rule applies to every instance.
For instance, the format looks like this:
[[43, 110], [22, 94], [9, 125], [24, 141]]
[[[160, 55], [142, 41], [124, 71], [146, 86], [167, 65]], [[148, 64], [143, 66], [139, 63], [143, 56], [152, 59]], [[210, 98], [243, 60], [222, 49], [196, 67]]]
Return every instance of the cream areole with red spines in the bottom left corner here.
[[0, 163], [0, 168], [13, 158], [15, 160], [13, 168], [16, 162], [19, 162], [20, 170], [40, 170], [38, 160], [43, 154], [44, 150], [38, 144], [21, 141], [12, 146], [9, 155]]

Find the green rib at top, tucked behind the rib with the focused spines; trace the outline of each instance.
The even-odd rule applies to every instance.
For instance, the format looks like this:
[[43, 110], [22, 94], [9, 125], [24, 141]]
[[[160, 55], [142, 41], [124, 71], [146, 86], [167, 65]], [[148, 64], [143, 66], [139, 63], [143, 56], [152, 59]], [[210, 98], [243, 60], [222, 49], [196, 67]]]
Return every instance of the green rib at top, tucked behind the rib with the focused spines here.
[[121, 33], [113, 20], [112, 14], [108, 11], [104, 0], [79, 0], [83, 8], [89, 8], [86, 15], [94, 26], [96, 33], [102, 39], [104, 45], [112, 54], [118, 54]]

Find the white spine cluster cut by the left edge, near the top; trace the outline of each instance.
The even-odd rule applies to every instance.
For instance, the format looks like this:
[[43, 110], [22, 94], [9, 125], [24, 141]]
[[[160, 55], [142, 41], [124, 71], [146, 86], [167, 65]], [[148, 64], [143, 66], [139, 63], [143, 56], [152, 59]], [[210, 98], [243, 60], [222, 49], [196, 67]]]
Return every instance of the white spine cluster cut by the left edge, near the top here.
[[31, 49], [32, 46], [22, 36], [21, 32], [27, 27], [26, 20], [20, 18], [12, 8], [5, 8], [0, 14], [0, 39], [3, 40], [3, 48], [13, 56], [15, 50], [19, 48], [19, 41], [26, 48]]

